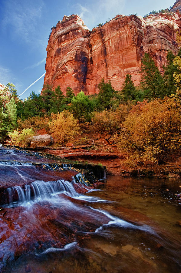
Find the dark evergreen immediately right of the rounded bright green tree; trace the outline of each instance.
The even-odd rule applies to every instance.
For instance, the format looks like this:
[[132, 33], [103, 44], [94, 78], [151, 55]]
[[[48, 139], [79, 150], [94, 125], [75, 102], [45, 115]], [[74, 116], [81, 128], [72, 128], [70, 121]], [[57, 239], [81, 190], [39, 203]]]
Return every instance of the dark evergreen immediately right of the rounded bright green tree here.
[[115, 90], [111, 85], [111, 81], [108, 83], [104, 82], [104, 78], [98, 84], [98, 88], [100, 90], [98, 94], [98, 105], [100, 110], [109, 109], [111, 98], [114, 96]]

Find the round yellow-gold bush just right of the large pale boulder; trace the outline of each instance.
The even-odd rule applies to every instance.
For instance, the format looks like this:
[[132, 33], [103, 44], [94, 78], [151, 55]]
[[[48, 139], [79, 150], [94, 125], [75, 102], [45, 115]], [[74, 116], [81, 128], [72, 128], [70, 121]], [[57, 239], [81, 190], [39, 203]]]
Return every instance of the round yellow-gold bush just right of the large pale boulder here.
[[[52, 117], [55, 117], [52, 115]], [[81, 133], [81, 128], [78, 121], [74, 119], [73, 114], [64, 110], [56, 115], [49, 123], [51, 135], [56, 139], [58, 144], [66, 145], [67, 142], [72, 142], [74, 137]]]

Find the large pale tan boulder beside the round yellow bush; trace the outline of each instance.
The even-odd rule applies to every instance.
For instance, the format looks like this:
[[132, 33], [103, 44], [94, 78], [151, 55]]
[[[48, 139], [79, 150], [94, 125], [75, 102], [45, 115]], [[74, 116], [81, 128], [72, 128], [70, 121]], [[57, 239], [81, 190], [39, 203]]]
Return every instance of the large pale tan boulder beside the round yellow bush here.
[[28, 138], [28, 146], [29, 147], [44, 147], [44, 146], [50, 146], [53, 144], [53, 138], [52, 136], [46, 134], [46, 135], [39, 135], [39, 136], [31, 136]]

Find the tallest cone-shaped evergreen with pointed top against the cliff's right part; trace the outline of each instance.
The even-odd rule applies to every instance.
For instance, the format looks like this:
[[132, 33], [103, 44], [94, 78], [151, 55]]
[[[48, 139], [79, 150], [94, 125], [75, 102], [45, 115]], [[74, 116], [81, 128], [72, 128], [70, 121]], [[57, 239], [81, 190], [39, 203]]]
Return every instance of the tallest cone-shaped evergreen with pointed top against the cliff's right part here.
[[153, 59], [148, 53], [145, 53], [142, 59], [140, 72], [142, 73], [141, 85], [145, 89], [145, 97], [147, 99], [155, 97], [163, 98], [165, 95], [163, 78], [158, 67], [156, 67]]

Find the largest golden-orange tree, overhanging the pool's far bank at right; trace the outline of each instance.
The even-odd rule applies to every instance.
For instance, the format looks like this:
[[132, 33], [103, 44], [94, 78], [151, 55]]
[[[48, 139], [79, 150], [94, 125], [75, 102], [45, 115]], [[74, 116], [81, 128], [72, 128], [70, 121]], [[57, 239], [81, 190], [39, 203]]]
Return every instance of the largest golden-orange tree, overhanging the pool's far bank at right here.
[[173, 99], [157, 99], [133, 106], [114, 135], [119, 150], [129, 152], [128, 165], [156, 163], [181, 149], [181, 116]]

